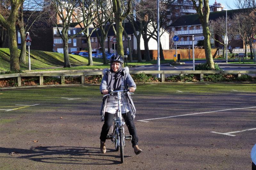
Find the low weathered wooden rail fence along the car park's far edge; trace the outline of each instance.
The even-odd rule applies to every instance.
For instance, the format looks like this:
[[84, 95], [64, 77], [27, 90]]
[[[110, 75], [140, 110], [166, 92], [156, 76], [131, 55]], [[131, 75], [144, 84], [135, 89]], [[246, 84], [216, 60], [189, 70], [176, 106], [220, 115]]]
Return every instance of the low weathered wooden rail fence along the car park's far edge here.
[[[164, 82], [165, 75], [168, 74], [180, 74], [181, 80], [184, 74], [200, 74], [200, 80], [204, 81], [204, 74], [237, 74], [237, 76], [241, 76], [241, 74], [255, 74], [256, 71], [237, 71], [237, 70], [224, 70], [224, 71], [217, 71], [217, 70], [163, 70], [163, 71], [154, 71], [154, 70], [130, 70], [130, 74], [160, 74], [161, 75], [161, 82]], [[101, 75], [102, 71], [62, 71], [62, 72], [30, 72], [30, 73], [16, 73], [16, 74], [2, 74], [0, 75], [0, 80], [5, 78], [17, 78], [18, 86], [21, 86], [21, 77], [39, 77], [39, 86], [44, 85], [44, 76], [50, 77], [60, 77], [61, 84], [65, 84], [65, 76], [80, 76], [80, 83], [85, 83], [85, 76], [86, 75]]]

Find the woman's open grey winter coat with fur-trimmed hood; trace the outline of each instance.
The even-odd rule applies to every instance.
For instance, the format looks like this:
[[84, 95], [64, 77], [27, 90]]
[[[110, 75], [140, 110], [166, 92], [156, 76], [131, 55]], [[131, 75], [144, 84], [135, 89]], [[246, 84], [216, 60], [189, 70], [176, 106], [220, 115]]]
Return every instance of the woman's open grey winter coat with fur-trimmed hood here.
[[[109, 69], [104, 69], [103, 70], [103, 78], [101, 80], [101, 84], [100, 84], [100, 92], [101, 90], [103, 89], [107, 89], [107, 84], [108, 84], [108, 79], [111, 78], [111, 75], [110, 75], [110, 70]], [[136, 84], [135, 82], [133, 81], [132, 79], [132, 76], [129, 74], [129, 68], [128, 67], [124, 67], [123, 71], [122, 71], [122, 79], [124, 80], [124, 87], [125, 89], [128, 89], [130, 87], [134, 87], [136, 89]], [[111, 90], [111, 89], [108, 89], [108, 90]], [[135, 114], [136, 114], [136, 109], [135, 109], [135, 106], [132, 102], [132, 97], [130, 95], [130, 93], [126, 93], [126, 96], [127, 96], [127, 100], [128, 100], [128, 103], [129, 103], [129, 107], [130, 107], [130, 112], [132, 114], [132, 118], [134, 119], [135, 118]], [[105, 96], [103, 97], [102, 99], [102, 104], [101, 104], [101, 111], [100, 111], [100, 115], [101, 115], [101, 121], [104, 121], [104, 114], [105, 114], [105, 111], [106, 111], [106, 106], [107, 106], [107, 100], [108, 99], [108, 96]]]

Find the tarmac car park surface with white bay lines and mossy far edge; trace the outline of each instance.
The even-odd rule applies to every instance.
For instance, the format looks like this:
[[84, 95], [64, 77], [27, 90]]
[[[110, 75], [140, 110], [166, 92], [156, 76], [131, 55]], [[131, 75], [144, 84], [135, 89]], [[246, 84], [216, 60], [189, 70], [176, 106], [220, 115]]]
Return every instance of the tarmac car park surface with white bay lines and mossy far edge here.
[[250, 169], [256, 85], [210, 86], [138, 85], [123, 164], [99, 150], [98, 86], [0, 91], [0, 169]]

